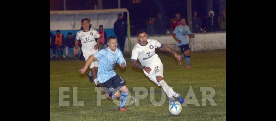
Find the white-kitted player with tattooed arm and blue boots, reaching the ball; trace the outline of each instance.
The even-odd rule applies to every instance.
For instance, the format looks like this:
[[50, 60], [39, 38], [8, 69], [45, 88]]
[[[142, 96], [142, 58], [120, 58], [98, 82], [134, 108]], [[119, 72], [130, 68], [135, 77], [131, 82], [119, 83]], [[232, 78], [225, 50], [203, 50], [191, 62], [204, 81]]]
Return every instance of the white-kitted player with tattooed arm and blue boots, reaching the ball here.
[[[131, 66], [143, 69], [144, 73], [150, 80], [152, 80], [157, 86], [161, 86], [164, 92], [169, 97], [169, 102], [174, 101], [173, 97], [176, 97], [178, 101], [183, 104], [184, 100], [180, 94], [174, 92], [171, 87], [163, 79], [163, 64], [155, 53], [155, 48], [160, 47], [167, 52], [174, 54], [177, 60], [180, 60], [180, 55], [172, 51], [168, 46], [161, 44], [155, 39], [147, 39], [147, 33], [144, 29], [137, 32], [138, 43], [134, 45], [131, 54]], [[136, 61], [139, 59], [140, 64]]]

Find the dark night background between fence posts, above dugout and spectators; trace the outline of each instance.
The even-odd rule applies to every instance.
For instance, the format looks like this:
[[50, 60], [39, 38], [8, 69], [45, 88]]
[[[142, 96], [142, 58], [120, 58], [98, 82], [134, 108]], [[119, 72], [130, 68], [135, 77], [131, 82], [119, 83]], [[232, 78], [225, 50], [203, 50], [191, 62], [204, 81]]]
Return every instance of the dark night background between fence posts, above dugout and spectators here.
[[[219, 0], [191, 0], [192, 11], [198, 12], [203, 25], [205, 17], [208, 16], [208, 2], [213, 4], [215, 16], [221, 14]], [[157, 12], [161, 12], [166, 20], [167, 28], [171, 23], [170, 19], [175, 18], [179, 13], [182, 18], [187, 18], [187, 0], [140, 0], [133, 3], [132, 0], [121, 0], [121, 8], [129, 11], [131, 31], [134, 29], [146, 28], [146, 21], [149, 17], [157, 17]], [[94, 10], [97, 0], [66, 0], [66, 10]], [[118, 0], [102, 0], [103, 9], [118, 8]], [[225, 5], [222, 8], [226, 8]], [[63, 0], [50, 0], [50, 10], [64, 10]], [[124, 18], [126, 19], [126, 13]]]

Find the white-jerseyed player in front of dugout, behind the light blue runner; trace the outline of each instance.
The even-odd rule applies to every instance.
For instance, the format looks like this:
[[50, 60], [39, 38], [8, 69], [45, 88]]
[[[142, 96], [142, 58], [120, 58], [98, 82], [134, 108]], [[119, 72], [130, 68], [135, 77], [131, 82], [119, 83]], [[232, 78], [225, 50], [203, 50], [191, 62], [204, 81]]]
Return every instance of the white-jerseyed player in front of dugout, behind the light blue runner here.
[[[94, 53], [98, 52], [101, 41], [99, 33], [95, 29], [91, 29], [90, 26], [91, 25], [89, 19], [82, 19], [81, 30], [78, 31], [75, 39], [75, 52], [78, 53], [78, 41], [81, 40], [81, 50], [83, 52], [85, 61], [87, 61], [90, 55], [93, 55]], [[98, 38], [97, 42], [95, 41], [95, 38]], [[98, 70], [97, 60], [93, 60], [89, 67], [91, 69], [91, 72], [87, 73], [87, 76], [89, 77], [91, 83], [94, 81], [96, 86], [99, 87], [98, 81], [96, 79]]]

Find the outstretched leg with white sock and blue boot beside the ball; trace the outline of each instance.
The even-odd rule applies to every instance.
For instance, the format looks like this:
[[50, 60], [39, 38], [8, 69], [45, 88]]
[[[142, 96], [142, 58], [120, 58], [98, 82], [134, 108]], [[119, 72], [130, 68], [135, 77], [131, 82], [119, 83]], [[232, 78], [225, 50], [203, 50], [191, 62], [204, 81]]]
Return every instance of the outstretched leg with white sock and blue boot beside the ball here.
[[172, 88], [169, 87], [169, 85], [165, 82], [162, 76], [156, 76], [156, 80], [161, 85], [162, 89], [167, 94], [167, 96], [169, 97], [169, 101], [174, 101], [173, 97], [176, 97], [179, 103], [181, 104], [184, 103], [184, 100], [181, 97], [181, 95], [179, 93], [174, 92], [174, 90], [172, 90]]

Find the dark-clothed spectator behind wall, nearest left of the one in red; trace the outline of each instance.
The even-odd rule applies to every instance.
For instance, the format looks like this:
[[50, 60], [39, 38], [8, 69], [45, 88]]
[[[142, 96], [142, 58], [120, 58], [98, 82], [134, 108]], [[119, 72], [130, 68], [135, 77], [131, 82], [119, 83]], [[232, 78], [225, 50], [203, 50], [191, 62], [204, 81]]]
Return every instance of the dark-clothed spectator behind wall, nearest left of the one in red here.
[[166, 34], [166, 22], [162, 18], [160, 12], [157, 13], [157, 19], [155, 20], [153, 27], [156, 34]]

